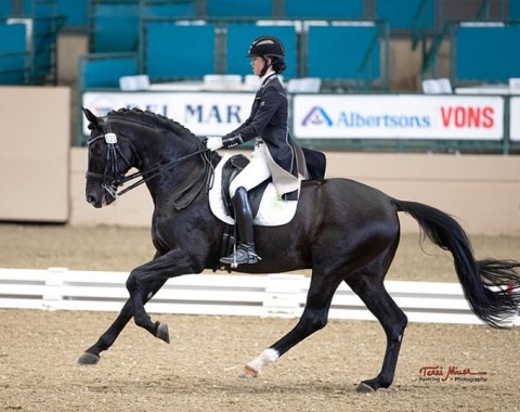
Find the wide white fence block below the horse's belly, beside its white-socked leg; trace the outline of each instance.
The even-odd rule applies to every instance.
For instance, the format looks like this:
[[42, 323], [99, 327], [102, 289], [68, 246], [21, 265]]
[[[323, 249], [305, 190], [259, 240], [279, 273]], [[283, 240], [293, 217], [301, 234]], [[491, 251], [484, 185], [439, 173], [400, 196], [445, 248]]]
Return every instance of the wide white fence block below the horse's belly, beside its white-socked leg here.
[[268, 275], [265, 298], [263, 300], [263, 317], [266, 318], [297, 318], [301, 314], [300, 301], [303, 291], [302, 274]]

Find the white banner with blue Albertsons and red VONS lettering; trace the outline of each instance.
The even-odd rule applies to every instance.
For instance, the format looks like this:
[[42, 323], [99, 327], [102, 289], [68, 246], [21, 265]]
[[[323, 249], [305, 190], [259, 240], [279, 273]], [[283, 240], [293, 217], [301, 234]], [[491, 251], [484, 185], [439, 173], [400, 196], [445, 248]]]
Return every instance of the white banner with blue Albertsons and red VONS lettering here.
[[504, 137], [504, 99], [459, 95], [295, 95], [296, 138], [468, 139]]

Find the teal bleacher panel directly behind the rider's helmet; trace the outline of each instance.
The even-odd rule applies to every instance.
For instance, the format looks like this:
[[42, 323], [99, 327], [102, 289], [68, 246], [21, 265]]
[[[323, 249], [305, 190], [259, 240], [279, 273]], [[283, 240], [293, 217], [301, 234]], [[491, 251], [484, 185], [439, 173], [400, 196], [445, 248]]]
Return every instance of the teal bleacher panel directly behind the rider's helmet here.
[[226, 73], [248, 75], [251, 73], [249, 61], [245, 59], [251, 41], [264, 35], [277, 37], [285, 47], [285, 62], [287, 69], [284, 72], [285, 78], [295, 78], [297, 76], [297, 33], [294, 25], [290, 26], [269, 26], [256, 25], [255, 23], [229, 24], [226, 30]]

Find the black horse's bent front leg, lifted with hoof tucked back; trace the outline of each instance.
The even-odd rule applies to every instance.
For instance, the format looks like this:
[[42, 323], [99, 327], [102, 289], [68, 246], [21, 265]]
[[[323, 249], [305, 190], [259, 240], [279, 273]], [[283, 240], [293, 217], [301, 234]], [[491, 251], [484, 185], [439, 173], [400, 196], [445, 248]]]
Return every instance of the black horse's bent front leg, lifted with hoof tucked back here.
[[132, 270], [127, 281], [127, 288], [130, 293], [130, 301], [133, 304], [135, 324], [169, 344], [168, 325], [152, 322], [151, 317], [144, 309], [144, 304], [157, 293], [169, 278], [194, 272], [195, 269], [190, 256], [180, 249], [170, 250], [166, 255]]

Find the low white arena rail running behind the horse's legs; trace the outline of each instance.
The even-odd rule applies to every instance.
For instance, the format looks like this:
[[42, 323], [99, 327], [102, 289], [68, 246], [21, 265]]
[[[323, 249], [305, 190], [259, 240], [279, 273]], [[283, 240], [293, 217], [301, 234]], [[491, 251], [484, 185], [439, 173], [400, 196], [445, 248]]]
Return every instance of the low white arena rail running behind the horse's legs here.
[[[0, 308], [119, 311], [128, 299], [127, 272], [0, 269]], [[192, 274], [169, 280], [146, 305], [151, 313], [296, 318], [309, 278], [301, 274]], [[457, 283], [385, 282], [411, 322], [482, 324]], [[330, 319], [375, 320], [341, 284]], [[520, 325], [517, 316], [511, 325]]]

